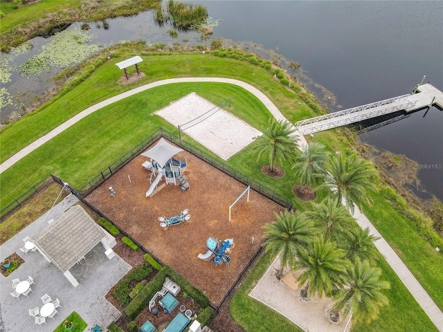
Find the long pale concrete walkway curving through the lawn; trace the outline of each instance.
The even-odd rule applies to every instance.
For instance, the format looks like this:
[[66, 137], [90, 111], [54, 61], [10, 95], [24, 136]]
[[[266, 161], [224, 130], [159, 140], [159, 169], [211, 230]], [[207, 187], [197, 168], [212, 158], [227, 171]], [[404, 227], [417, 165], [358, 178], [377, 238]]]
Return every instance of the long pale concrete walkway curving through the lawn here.
[[[51, 138], [57, 136], [65, 129], [71, 127], [73, 124], [75, 124], [75, 122], [78, 122], [82, 120], [82, 118], [89, 116], [89, 114], [98, 111], [98, 109], [101, 109], [102, 107], [117, 102], [118, 100], [127, 98], [131, 95], [135, 95], [136, 93], [152, 89], [156, 86], [162, 86], [165, 84], [173, 84], [173, 83], [182, 83], [182, 82], [219, 82], [219, 83], [227, 83], [227, 84], [234, 84], [237, 86], [241, 86], [243, 89], [246, 89], [246, 91], [253, 93], [253, 95], [255, 95], [255, 97], [257, 97], [264, 104], [264, 106], [267, 107], [267, 109], [269, 110], [269, 112], [271, 112], [274, 118], [276, 118], [277, 120], [287, 120], [286, 118], [284, 118], [283, 114], [277, 109], [277, 107], [275, 107], [273, 102], [271, 102], [271, 100], [269, 100], [269, 98], [267, 98], [266, 95], [262, 93], [262, 91], [256, 89], [254, 86], [251, 86], [250, 84], [247, 84], [246, 82], [233, 80], [230, 78], [223, 78], [223, 77], [171, 78], [168, 80], [161, 80], [157, 82], [152, 82], [150, 84], [145, 84], [143, 86], [139, 86], [136, 89], [120, 93], [120, 95], [116, 95], [112, 98], [99, 102], [98, 104], [95, 104], [85, 109], [84, 111], [78, 113], [76, 116], [73, 116], [73, 118], [67, 120], [63, 124], [60, 124], [60, 126], [53, 129], [51, 132], [42, 136], [38, 140], [35, 140], [27, 147], [24, 147], [19, 152], [17, 152], [17, 154], [15, 154], [14, 156], [6, 160], [4, 163], [2, 163], [0, 165], [0, 173], [8, 169], [15, 163], [17, 163], [17, 161], [19, 161], [21, 158], [24, 158], [38, 147], [44, 145], [44, 143], [48, 142], [48, 140], [51, 140]], [[298, 134], [298, 137], [300, 138], [298, 144], [299, 147], [300, 148], [305, 147], [305, 145], [307, 145], [305, 138], [300, 134]], [[406, 288], [408, 288], [408, 291], [410, 291], [410, 293], [413, 295], [418, 304], [422, 307], [426, 315], [428, 315], [428, 317], [435, 324], [435, 326], [437, 326], [437, 329], [443, 332], [443, 313], [442, 311], [440, 311], [440, 308], [438, 308], [437, 304], [435, 304], [433, 299], [431, 299], [428, 293], [426, 293], [422, 285], [419, 284], [417, 279], [415, 279], [415, 277], [406, 267], [403, 261], [401, 261], [400, 257], [398, 257], [395, 251], [392, 250], [388, 242], [385, 239], [383, 239], [383, 237], [381, 237], [381, 234], [377, 231], [374, 225], [372, 225], [369, 219], [360, 210], [358, 210], [358, 208], [355, 208], [355, 213], [353, 216], [356, 219], [356, 222], [361, 226], [361, 228], [368, 227], [370, 229], [371, 234], [380, 237], [379, 240], [374, 242], [375, 246], [377, 247], [379, 252], [381, 252], [381, 255], [385, 257], [386, 261], [388, 261], [388, 264], [391, 266], [392, 270], [394, 270], [394, 272], [397, 274], [399, 279], [401, 279], [401, 282], [403, 282]]]

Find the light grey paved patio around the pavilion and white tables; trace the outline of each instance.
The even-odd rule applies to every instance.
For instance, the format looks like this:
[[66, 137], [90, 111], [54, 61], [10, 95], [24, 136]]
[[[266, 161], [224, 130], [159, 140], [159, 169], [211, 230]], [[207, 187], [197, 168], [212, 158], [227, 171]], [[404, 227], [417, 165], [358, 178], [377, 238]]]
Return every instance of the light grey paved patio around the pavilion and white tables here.
[[[54, 331], [73, 311], [76, 311], [87, 322], [87, 331], [89, 331], [96, 323], [102, 328], [108, 326], [120, 315], [117, 309], [105, 299], [105, 295], [131, 267], [118, 256], [111, 260], [107, 259], [101, 243], [98, 243], [86, 255], [86, 261], [71, 268], [71, 273], [80, 283], [77, 287], [72, 286], [63, 273], [46, 261], [39, 252], [28, 252], [26, 255], [19, 250], [19, 247], [24, 246], [24, 237], [36, 238], [39, 234], [43, 234], [53, 225], [49, 225], [48, 220], [54, 219], [57, 222], [57, 219], [77, 201], [75, 196], [67, 196], [55, 205], [46, 217], [46, 221], [44, 221], [44, 215], [39, 217], [0, 247], [0, 259], [16, 252], [25, 261], [7, 278], [0, 277], [1, 332]], [[13, 291], [12, 279], [18, 278], [21, 281], [27, 279], [28, 276], [33, 277], [35, 282], [31, 285], [33, 292], [29, 293], [28, 297], [24, 295], [20, 295], [19, 299], [12, 297], [10, 295]], [[34, 317], [29, 315], [28, 309], [37, 306], [41, 308], [43, 302], [40, 297], [46, 293], [53, 300], [60, 299], [62, 307], [57, 308], [59, 315], [55, 315], [54, 320], [47, 318], [47, 324], [38, 326], [34, 322]]]

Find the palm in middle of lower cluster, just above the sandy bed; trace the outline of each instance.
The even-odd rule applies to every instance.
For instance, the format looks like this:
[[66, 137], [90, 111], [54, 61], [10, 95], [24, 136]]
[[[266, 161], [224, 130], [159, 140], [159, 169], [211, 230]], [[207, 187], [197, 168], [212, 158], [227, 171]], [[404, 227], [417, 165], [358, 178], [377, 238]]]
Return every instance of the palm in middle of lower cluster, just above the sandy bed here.
[[343, 275], [349, 266], [349, 261], [345, 259], [345, 252], [337, 248], [334, 242], [325, 241], [320, 238], [314, 242], [306, 251], [301, 251], [298, 260], [295, 262], [296, 270], [302, 270], [298, 281], [304, 284], [307, 282], [302, 296], [312, 296], [315, 293], [319, 297], [332, 296], [343, 284]]

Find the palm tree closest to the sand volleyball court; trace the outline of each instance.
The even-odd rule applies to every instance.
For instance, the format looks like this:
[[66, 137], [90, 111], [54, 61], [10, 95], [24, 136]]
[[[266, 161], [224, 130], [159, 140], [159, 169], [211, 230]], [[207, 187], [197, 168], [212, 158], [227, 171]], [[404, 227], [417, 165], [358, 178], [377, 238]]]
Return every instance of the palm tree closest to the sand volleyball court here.
[[269, 172], [274, 172], [275, 160], [293, 160], [298, 142], [298, 137], [293, 135], [296, 129], [287, 121], [271, 118], [262, 130], [263, 135], [256, 138], [253, 150], [257, 161], [263, 154], [269, 154]]

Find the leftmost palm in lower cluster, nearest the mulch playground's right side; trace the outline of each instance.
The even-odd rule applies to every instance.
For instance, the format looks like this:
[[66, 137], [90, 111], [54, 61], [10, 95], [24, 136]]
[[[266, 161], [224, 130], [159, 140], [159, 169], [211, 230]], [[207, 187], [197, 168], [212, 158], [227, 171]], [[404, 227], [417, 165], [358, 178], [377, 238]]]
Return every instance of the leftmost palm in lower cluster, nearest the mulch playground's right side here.
[[280, 214], [274, 213], [275, 221], [263, 226], [266, 239], [262, 246], [266, 251], [277, 255], [280, 253], [280, 271], [282, 277], [284, 266], [293, 266], [299, 252], [304, 250], [316, 237], [314, 223], [307, 220], [303, 214], [285, 210]]

